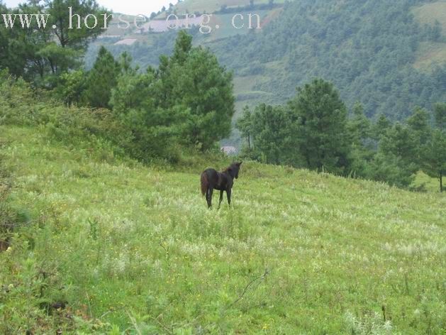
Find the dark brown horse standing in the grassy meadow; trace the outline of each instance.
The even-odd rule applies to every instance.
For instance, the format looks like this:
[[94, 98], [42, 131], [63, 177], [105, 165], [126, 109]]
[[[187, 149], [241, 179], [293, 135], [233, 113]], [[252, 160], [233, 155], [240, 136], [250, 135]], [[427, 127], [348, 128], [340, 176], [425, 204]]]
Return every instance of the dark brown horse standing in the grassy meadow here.
[[201, 173], [201, 193], [206, 196], [208, 208], [212, 207], [213, 190], [220, 191], [220, 202], [218, 203], [218, 208], [220, 208], [221, 202], [223, 201], [223, 192], [225, 191], [226, 195], [228, 196], [228, 204], [230, 206], [230, 193], [233, 189], [234, 179], [238, 178], [240, 165], [242, 165], [242, 162], [233, 163], [223, 172], [208, 169]]

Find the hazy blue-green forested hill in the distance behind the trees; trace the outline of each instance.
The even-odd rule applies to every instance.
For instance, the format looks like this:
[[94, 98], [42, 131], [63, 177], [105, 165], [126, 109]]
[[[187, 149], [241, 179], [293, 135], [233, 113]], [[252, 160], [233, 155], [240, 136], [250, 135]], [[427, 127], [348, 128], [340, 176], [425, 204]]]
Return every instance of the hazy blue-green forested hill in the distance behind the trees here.
[[[240, 11], [246, 10], [245, 2], [240, 1]], [[253, 9], [262, 9], [264, 2], [254, 1]], [[369, 116], [404, 119], [416, 105], [430, 109], [446, 99], [445, 1], [279, 2], [267, 13], [261, 10], [265, 24], [260, 33], [194, 32], [194, 40], [235, 71], [240, 106], [284, 102], [313, 77], [333, 81], [348, 106], [361, 101]], [[193, 5], [196, 11], [199, 3], [185, 0], [177, 6], [181, 11]], [[174, 35], [152, 33], [132, 46], [110, 47], [116, 54], [129, 50], [144, 67], [169, 52]]]

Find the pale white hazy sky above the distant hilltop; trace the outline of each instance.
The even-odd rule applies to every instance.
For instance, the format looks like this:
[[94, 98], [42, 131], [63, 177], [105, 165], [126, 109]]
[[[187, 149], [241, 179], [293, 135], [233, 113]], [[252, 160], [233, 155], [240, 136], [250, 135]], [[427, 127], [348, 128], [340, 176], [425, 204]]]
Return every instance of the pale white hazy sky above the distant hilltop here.
[[[172, 0], [96, 0], [99, 4], [107, 9], [113, 9], [117, 13], [126, 14], [143, 14], [149, 16], [152, 11], [159, 11], [162, 6], [168, 7], [169, 2], [176, 4], [177, 1]], [[4, 4], [8, 7], [15, 7], [25, 2], [23, 0], [4, 0]]]

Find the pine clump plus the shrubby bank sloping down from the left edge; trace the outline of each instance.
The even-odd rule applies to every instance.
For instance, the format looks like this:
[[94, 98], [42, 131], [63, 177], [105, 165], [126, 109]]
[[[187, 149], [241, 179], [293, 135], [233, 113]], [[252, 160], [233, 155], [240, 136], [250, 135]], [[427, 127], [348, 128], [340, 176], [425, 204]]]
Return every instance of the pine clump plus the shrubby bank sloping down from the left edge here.
[[[2, 123], [43, 124], [52, 138], [72, 145], [102, 142], [114, 145], [118, 155], [125, 150], [146, 163], [154, 158], [178, 163], [183, 150], [213, 150], [230, 133], [231, 74], [208, 50], [192, 48], [185, 33], [179, 34], [172, 57], [162, 57], [159, 69], [145, 73], [132, 67], [128, 54], [116, 61], [102, 48], [89, 72], [67, 72], [57, 79], [53, 92], [68, 109], [39, 99], [7, 72], [1, 77]], [[77, 107], [82, 104], [94, 109]], [[102, 109], [109, 104], [113, 111]]]

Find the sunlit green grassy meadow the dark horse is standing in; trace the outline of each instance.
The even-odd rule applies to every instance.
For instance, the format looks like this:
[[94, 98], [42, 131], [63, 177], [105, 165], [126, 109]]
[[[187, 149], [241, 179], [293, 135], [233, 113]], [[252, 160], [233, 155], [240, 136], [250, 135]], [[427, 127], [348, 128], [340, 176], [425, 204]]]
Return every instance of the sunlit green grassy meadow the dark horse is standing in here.
[[145, 167], [47, 134], [0, 126], [26, 222], [0, 252], [1, 334], [446, 329], [440, 194], [245, 162], [233, 208], [208, 211], [212, 162]]

